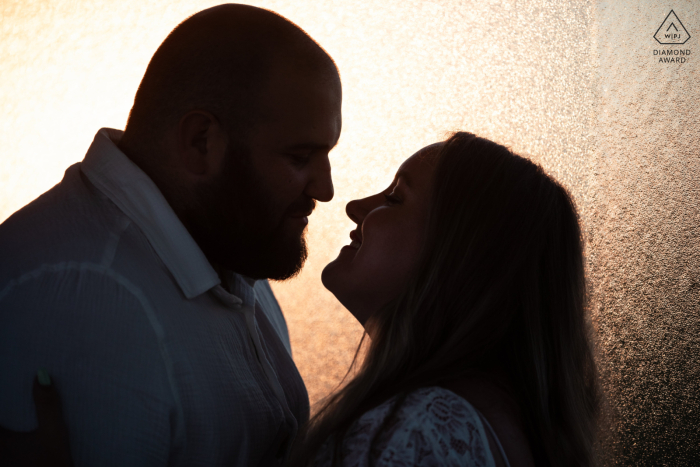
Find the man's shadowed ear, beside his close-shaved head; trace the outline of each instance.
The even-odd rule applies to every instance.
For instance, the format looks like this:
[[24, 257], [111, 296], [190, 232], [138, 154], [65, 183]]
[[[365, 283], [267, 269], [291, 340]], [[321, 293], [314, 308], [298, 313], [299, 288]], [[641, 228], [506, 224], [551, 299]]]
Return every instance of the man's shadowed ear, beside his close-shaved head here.
[[192, 110], [180, 118], [177, 153], [184, 171], [195, 177], [216, 175], [223, 166], [226, 137], [219, 120], [205, 110]]

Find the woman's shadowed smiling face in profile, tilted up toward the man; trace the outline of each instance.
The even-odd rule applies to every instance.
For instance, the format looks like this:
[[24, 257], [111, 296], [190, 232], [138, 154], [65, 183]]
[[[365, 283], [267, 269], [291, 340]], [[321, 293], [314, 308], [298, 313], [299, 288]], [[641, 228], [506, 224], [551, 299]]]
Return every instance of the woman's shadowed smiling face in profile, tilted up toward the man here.
[[323, 285], [364, 326], [395, 298], [416, 267], [425, 236], [435, 154], [427, 146], [401, 164], [389, 188], [348, 203], [352, 243], [323, 270]]

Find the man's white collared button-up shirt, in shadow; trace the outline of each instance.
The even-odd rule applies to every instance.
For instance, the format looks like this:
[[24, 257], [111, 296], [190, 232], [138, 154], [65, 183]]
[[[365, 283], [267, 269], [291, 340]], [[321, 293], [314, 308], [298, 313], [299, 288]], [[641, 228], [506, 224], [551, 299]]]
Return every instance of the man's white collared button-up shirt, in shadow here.
[[309, 401], [272, 290], [221, 286], [121, 134], [0, 225], [0, 425], [46, 368], [76, 467], [279, 465]]

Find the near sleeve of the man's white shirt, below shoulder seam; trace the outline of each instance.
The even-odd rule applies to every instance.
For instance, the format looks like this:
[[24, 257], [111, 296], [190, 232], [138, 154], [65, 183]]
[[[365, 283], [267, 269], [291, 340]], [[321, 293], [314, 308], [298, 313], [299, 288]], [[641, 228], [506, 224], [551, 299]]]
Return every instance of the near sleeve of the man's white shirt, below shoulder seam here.
[[163, 336], [133, 287], [90, 265], [41, 268], [0, 291], [0, 425], [36, 427], [46, 368], [76, 467], [168, 465], [177, 404]]

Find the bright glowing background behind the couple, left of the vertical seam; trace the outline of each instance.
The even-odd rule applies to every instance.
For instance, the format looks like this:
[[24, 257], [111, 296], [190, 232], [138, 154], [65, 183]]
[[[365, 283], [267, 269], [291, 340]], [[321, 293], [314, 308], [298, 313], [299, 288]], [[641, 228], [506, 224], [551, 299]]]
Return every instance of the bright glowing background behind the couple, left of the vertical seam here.
[[[457, 129], [537, 154], [565, 177], [579, 176], [567, 172], [560, 154], [580, 158], [586, 147], [580, 143], [588, 134], [588, 38], [580, 12], [564, 7], [543, 10], [538, 25], [526, 24], [532, 18], [526, 12], [485, 2], [251, 3], [303, 27], [334, 57], [343, 80], [343, 132], [332, 153], [336, 197], [310, 219], [303, 273], [273, 284], [315, 401], [338, 384], [361, 335], [320, 282], [354, 225], [345, 204], [384, 189], [405, 158]], [[124, 127], [160, 42], [184, 18], [214, 4], [0, 5], [0, 220], [60, 181], [98, 128]], [[553, 15], [557, 22], [548, 23]], [[543, 41], [545, 25], [556, 29], [558, 42]], [[542, 59], [554, 55], [556, 66]]]

